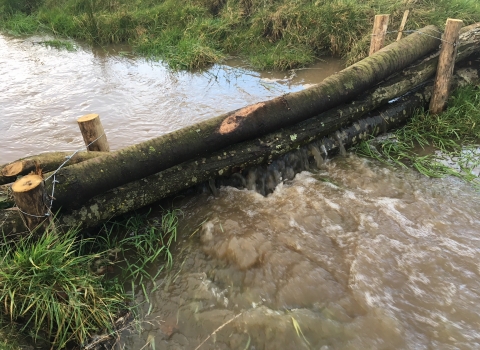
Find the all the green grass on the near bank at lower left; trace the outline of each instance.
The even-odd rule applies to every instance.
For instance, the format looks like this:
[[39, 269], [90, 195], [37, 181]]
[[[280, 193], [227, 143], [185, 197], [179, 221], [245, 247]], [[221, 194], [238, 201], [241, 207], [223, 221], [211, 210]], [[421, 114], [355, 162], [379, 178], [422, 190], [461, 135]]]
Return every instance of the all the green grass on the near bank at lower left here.
[[82, 239], [76, 230], [51, 230], [39, 239], [4, 237], [0, 349], [18, 348], [9, 326], [58, 349], [86, 344], [96, 332], [117, 331], [115, 321], [136, 307], [124, 285], [136, 281], [145, 291], [143, 279], [157, 277], [147, 273], [148, 264], [165, 258], [158, 270], [171, 266], [177, 214], [168, 211], [161, 220], [136, 215], [105, 226], [95, 239]]

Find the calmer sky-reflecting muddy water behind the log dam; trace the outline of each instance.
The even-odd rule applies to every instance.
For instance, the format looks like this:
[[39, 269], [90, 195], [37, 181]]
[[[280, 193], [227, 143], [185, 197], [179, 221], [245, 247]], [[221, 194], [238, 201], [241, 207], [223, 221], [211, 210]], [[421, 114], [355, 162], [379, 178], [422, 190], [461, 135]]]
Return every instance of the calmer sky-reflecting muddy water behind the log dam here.
[[298, 91], [343, 68], [329, 60], [288, 73], [258, 73], [239, 60], [174, 73], [128, 47], [59, 51], [0, 35], [0, 164], [83, 146], [76, 119], [98, 113], [119, 149], [250, 103]]

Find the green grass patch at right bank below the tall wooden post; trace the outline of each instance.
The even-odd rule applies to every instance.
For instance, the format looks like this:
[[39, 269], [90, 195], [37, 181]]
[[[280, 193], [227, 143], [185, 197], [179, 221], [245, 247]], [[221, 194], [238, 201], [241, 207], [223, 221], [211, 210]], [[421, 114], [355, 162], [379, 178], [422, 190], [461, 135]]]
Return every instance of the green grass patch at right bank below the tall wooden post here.
[[[453, 175], [480, 188], [480, 178], [472, 173], [480, 167], [479, 140], [480, 90], [468, 86], [454, 93], [445, 112], [433, 116], [419, 111], [391, 137], [364, 141], [356, 151], [388, 164], [412, 166], [429, 177]], [[424, 148], [429, 151], [421, 155]]]

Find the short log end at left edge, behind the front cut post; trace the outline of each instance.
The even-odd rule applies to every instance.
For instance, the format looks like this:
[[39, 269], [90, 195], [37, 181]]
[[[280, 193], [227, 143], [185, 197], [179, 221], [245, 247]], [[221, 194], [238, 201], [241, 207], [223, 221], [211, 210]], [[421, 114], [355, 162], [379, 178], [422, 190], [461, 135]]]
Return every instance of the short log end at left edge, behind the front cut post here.
[[[19, 159], [15, 162], [0, 166], [0, 185], [15, 182], [17, 176], [27, 175], [38, 168], [43, 173], [57, 170], [73, 152], [49, 152]], [[87, 159], [103, 155], [101, 152], [77, 152], [68, 161], [69, 165], [84, 162]]]

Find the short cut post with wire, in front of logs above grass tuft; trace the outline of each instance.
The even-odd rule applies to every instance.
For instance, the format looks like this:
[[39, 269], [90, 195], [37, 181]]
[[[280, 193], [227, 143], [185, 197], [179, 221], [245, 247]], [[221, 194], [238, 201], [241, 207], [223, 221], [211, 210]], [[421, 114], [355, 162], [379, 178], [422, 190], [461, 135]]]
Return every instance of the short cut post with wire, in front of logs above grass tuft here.
[[12, 185], [15, 204], [22, 211], [22, 217], [30, 231], [40, 225], [48, 227], [51, 217], [46, 205], [43, 177], [36, 174], [26, 175]]

